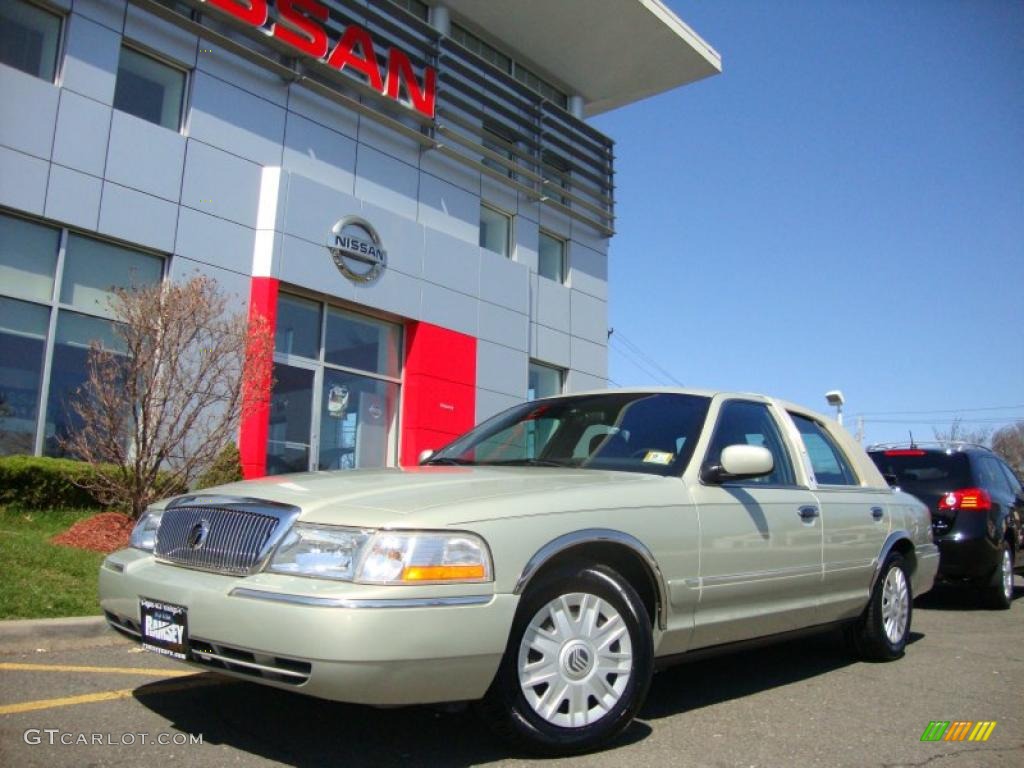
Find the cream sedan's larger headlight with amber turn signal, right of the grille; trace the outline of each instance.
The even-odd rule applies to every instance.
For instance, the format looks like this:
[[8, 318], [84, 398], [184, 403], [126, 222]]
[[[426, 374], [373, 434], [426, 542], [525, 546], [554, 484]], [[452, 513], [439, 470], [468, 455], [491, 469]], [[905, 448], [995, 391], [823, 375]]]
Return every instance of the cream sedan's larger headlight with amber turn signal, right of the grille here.
[[296, 524], [269, 569], [365, 584], [489, 582], [490, 555], [473, 534], [358, 530]]

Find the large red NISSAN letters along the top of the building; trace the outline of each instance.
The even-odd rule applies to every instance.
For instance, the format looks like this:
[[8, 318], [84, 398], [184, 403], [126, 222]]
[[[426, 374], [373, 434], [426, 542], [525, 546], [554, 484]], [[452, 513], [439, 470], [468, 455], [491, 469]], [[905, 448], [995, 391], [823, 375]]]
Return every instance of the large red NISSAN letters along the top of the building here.
[[[204, 1], [252, 27], [263, 27], [270, 14], [267, 0]], [[371, 88], [395, 101], [400, 100], [404, 88], [414, 110], [434, 117], [437, 73], [433, 68], [424, 68], [421, 83], [409, 56], [392, 47], [387, 52], [387, 71], [382, 73], [377, 66], [373, 38], [361, 27], [354, 24], [346, 27], [331, 48], [323, 27], [329, 15], [326, 5], [317, 0], [276, 0], [275, 6], [278, 20], [268, 30], [278, 40], [339, 72], [348, 68], [362, 74]]]

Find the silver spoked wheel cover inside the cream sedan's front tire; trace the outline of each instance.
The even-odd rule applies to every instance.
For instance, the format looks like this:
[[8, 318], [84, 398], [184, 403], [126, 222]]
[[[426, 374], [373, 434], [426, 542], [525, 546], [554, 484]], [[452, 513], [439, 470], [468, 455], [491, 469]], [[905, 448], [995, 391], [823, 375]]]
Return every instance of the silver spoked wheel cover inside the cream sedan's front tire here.
[[596, 595], [573, 592], [535, 614], [516, 667], [526, 702], [562, 728], [608, 714], [633, 674], [633, 643], [623, 616]]

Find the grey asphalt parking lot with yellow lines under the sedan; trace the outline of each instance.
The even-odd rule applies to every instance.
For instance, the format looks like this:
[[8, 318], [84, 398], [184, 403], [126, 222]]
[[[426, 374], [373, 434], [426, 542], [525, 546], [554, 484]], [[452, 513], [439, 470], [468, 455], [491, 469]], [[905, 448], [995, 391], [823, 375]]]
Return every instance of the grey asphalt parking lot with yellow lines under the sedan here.
[[[611, 750], [559, 761], [511, 753], [471, 712], [321, 701], [195, 673], [128, 642], [0, 649], [0, 764], [1024, 765], [1022, 586], [1004, 612], [975, 608], [962, 590], [925, 596], [894, 664], [851, 662], [820, 635], [673, 668]], [[936, 720], [996, 725], [984, 742], [921, 741]]]

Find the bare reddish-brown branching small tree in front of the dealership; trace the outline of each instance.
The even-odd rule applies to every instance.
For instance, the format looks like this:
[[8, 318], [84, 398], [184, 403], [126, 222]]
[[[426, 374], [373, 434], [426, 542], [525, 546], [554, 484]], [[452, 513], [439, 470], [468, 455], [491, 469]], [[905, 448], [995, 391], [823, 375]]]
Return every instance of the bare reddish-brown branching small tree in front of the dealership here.
[[70, 398], [70, 454], [113, 471], [86, 481], [137, 517], [187, 487], [269, 397], [273, 331], [262, 315], [228, 313], [210, 278], [118, 289], [111, 308], [120, 349], [94, 342], [87, 378]]

